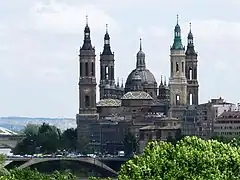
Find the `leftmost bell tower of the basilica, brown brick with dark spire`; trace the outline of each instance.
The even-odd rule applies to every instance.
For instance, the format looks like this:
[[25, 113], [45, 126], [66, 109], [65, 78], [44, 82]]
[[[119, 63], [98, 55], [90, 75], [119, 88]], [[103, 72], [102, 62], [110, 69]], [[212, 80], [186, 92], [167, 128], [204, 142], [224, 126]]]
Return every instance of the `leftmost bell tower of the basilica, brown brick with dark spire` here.
[[82, 120], [96, 119], [96, 75], [95, 75], [95, 48], [91, 44], [90, 28], [88, 18], [84, 29], [83, 45], [80, 48], [79, 62], [79, 113], [77, 114], [77, 124]]

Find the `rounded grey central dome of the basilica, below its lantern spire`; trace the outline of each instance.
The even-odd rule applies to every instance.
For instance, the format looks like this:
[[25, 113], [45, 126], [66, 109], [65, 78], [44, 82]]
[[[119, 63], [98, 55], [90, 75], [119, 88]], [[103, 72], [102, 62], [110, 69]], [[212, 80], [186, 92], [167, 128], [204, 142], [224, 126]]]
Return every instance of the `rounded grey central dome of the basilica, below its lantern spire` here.
[[148, 69], [134, 69], [127, 78], [125, 87], [131, 87], [132, 82], [135, 79], [135, 74], [137, 74], [141, 77], [141, 84], [157, 84], [156, 79], [154, 75], [148, 70]]

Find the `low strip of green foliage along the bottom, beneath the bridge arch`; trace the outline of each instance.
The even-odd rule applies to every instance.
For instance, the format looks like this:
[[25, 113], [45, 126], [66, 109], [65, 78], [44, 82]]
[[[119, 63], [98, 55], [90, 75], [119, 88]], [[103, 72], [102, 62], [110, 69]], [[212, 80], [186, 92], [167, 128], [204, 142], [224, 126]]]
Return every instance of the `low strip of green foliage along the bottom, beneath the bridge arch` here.
[[8, 175], [0, 176], [0, 180], [76, 180], [76, 177], [71, 173], [60, 174], [57, 171], [51, 175], [45, 175], [37, 170], [13, 169]]

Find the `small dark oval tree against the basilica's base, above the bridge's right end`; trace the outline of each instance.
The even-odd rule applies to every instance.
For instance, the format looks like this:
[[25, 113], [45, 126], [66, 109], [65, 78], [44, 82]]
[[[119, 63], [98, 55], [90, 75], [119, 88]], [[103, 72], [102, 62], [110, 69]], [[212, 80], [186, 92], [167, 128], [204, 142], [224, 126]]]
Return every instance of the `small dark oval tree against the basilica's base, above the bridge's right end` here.
[[131, 133], [128, 132], [124, 137], [124, 151], [125, 154], [132, 155], [137, 150], [137, 140], [136, 137]]

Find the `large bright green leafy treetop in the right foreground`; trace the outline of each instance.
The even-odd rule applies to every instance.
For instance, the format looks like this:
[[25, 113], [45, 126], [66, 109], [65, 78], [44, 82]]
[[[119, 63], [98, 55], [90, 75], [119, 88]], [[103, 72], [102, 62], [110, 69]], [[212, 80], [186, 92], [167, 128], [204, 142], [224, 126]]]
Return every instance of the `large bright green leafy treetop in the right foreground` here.
[[176, 145], [153, 141], [122, 166], [118, 179], [229, 180], [240, 177], [240, 148], [185, 137]]

